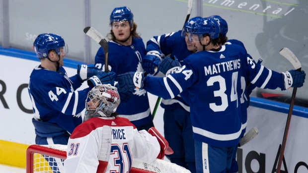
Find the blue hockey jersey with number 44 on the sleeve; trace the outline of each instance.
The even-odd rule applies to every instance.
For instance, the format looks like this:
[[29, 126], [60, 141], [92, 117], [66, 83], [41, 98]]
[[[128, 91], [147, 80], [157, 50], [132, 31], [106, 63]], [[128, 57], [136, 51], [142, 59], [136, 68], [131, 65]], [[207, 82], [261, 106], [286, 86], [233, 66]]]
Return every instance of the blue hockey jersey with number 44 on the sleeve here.
[[[36, 135], [40, 137], [65, 136], [72, 133], [82, 122], [81, 111], [85, 108], [88, 91], [81, 86], [77, 75], [68, 77], [65, 69], [47, 70], [36, 66], [29, 81], [28, 92], [33, 105], [32, 120]], [[65, 143], [65, 141], [63, 141]]]

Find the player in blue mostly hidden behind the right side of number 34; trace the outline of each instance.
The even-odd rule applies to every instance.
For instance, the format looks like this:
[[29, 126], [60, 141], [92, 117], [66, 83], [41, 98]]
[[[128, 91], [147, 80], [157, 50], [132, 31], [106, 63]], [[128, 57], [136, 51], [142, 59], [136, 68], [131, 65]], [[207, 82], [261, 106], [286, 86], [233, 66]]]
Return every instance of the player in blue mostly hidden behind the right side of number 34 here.
[[[213, 15], [213, 16], [210, 16], [210, 18], [213, 18], [215, 19], [216, 21], [219, 22], [220, 24], [220, 29], [221, 29], [221, 32], [220, 32], [220, 39], [221, 39], [221, 45], [231, 45], [231, 44], [235, 44], [235, 45], [239, 45], [241, 46], [242, 48], [245, 49], [244, 47], [244, 44], [238, 40], [228, 40], [228, 37], [227, 37], [227, 33], [228, 33], [228, 23], [225, 19], [223, 19], [221, 16], [219, 15]], [[245, 49], [246, 50], [246, 49]], [[252, 59], [252, 57], [247, 54], [248, 57]], [[266, 83], [263, 83], [263, 87], [266, 87], [268, 89], [276, 89], [278, 86], [281, 86], [283, 85], [284, 81], [283, 81], [283, 77], [276, 71], [273, 71], [273, 70], [270, 70], [270, 69], [267, 69], [266, 67], [264, 67], [263, 65], [260, 65], [258, 63], [255, 63], [256, 66], [258, 66], [257, 68], [262, 68], [262, 73], [260, 73], [260, 76], [264, 76], [267, 78], [267, 81]], [[298, 73], [299, 75], [299, 78], [303, 77], [305, 79], [305, 72], [304, 71], [301, 71], [301, 72], [296, 72], [295, 70], [290, 70], [289, 73], [292, 75], [292, 76], [295, 76], [296, 73]], [[281, 80], [279, 80], [281, 79]], [[272, 84], [272, 81], [275, 81], [275, 83], [277, 85], [271, 85]], [[244, 76], [241, 76], [241, 109], [242, 109], [242, 132], [241, 132], [241, 137], [244, 136], [244, 133], [246, 131], [246, 126], [247, 126], [247, 108], [249, 106], [249, 95], [251, 94], [252, 90], [256, 87], [255, 85], [251, 84], [250, 83], [251, 81], [249, 81], [249, 78], [247, 77], [244, 77]], [[247, 83], [250, 83], [250, 85], [246, 85]], [[269, 85], [267, 85], [269, 84]], [[234, 154], [233, 154], [233, 158], [232, 158], [232, 164], [231, 164], [231, 169], [228, 170], [229, 173], [237, 173], [238, 172], [238, 165], [237, 165], [237, 162], [236, 162], [236, 151], [237, 151], [237, 148], [236, 150], [234, 150]]]

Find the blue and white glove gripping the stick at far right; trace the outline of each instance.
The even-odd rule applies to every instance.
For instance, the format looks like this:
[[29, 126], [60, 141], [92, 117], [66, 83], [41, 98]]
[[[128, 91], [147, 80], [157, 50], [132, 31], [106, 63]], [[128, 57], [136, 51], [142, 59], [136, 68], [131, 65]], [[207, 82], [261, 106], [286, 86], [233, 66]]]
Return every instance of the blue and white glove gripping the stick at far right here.
[[281, 73], [282, 79], [285, 83], [285, 89], [290, 89], [290, 87], [302, 87], [305, 82], [306, 73], [304, 70], [296, 71], [296, 70], [289, 70], [286, 72]]

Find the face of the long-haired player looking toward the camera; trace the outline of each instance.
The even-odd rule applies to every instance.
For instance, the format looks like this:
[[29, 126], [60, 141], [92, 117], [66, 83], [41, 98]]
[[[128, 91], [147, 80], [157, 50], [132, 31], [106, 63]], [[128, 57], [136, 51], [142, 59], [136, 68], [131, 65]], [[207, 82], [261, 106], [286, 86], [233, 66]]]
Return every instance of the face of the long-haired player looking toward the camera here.
[[125, 41], [131, 36], [131, 31], [133, 27], [130, 27], [128, 21], [124, 22], [113, 22], [112, 23], [112, 32], [117, 41]]

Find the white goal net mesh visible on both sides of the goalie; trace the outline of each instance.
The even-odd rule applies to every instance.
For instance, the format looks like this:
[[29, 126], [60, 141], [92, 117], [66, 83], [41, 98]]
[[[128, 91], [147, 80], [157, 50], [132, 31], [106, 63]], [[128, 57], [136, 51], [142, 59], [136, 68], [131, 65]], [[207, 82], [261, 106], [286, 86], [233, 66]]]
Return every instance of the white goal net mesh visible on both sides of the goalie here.
[[[33, 170], [27, 169], [27, 173], [65, 173], [63, 162], [64, 159], [59, 157], [52, 157], [53, 154], [48, 154], [48, 151], [61, 150], [62, 155], [66, 154], [66, 145], [41, 145], [44, 148], [47, 147], [47, 152], [40, 152], [40, 149], [36, 149], [33, 152]], [[27, 159], [29, 159], [29, 154], [27, 154]], [[152, 163], [144, 163], [138, 160], [133, 160], [131, 173], [190, 173], [189, 170], [172, 164], [170, 162], [156, 159]]]

